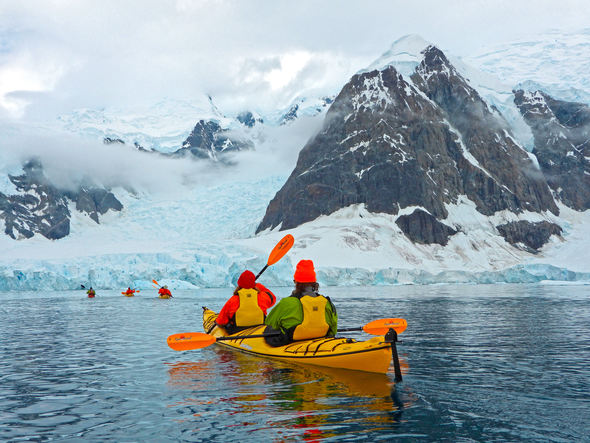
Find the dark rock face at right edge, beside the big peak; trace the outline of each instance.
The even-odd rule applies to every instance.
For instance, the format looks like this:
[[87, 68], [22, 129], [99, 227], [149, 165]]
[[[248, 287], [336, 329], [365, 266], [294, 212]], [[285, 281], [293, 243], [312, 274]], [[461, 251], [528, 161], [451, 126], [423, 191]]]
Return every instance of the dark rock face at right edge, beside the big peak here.
[[590, 209], [590, 108], [536, 91], [514, 92], [535, 138], [533, 153], [555, 195], [567, 206]]

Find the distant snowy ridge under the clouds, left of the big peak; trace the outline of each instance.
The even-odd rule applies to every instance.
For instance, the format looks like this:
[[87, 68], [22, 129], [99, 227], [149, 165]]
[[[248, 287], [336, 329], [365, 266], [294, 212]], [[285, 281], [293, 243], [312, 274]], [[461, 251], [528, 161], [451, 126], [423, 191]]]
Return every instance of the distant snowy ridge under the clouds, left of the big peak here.
[[203, 95], [195, 100], [168, 98], [144, 106], [77, 109], [60, 116], [59, 123], [64, 130], [84, 138], [119, 140], [148, 151], [172, 154], [195, 147], [189, 140], [195, 125], [214, 125], [212, 134], [221, 133], [225, 139], [233, 137], [255, 146], [265, 138], [265, 128], [290, 124], [301, 117], [316, 117], [327, 110], [331, 100], [297, 97], [286, 108], [266, 113], [223, 112], [212, 97]]

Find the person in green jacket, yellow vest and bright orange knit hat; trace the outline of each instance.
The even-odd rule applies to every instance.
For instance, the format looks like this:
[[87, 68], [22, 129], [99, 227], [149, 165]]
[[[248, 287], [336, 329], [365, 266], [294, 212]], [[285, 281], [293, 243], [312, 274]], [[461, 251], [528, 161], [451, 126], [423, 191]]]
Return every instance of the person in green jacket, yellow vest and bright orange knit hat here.
[[293, 282], [295, 289], [291, 295], [282, 299], [266, 317], [266, 343], [283, 346], [295, 340], [335, 336], [338, 314], [332, 301], [318, 293], [311, 260], [297, 263]]

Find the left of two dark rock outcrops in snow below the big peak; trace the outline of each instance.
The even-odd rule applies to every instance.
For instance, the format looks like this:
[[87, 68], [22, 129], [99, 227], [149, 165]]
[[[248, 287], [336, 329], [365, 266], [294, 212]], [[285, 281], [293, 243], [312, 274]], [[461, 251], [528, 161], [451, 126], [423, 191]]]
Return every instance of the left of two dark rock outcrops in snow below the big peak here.
[[400, 215], [395, 223], [406, 237], [423, 245], [437, 243], [446, 246], [449, 237], [458, 232], [421, 209], [414, 210], [410, 215]]

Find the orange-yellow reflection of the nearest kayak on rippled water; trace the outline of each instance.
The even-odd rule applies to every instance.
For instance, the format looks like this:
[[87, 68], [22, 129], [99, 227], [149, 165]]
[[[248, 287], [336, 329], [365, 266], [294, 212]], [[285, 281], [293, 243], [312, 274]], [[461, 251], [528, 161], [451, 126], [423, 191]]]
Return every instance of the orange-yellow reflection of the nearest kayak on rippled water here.
[[[217, 403], [230, 427], [273, 429], [279, 439], [324, 439], [387, 429], [415, 398], [383, 374], [296, 365], [214, 348], [206, 359], [169, 364], [169, 386], [185, 392], [171, 407], [204, 419]], [[408, 372], [405, 361], [400, 362]], [[211, 391], [218, 392], [217, 397]]]

